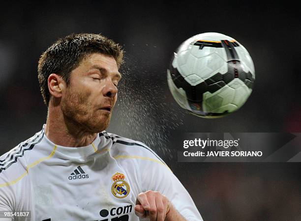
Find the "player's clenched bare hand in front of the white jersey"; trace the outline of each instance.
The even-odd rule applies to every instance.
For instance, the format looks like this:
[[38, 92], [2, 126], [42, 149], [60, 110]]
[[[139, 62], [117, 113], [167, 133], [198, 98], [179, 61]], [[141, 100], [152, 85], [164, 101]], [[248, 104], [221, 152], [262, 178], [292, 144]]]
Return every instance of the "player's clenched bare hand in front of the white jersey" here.
[[164, 221], [172, 204], [166, 196], [159, 192], [147, 191], [139, 193], [136, 199], [135, 214], [151, 221]]

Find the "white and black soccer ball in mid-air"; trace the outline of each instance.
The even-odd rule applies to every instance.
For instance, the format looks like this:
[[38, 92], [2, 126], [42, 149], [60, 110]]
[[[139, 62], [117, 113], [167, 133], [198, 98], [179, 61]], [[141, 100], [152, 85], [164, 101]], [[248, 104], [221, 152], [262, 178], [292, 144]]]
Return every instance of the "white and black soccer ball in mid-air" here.
[[167, 70], [168, 86], [177, 103], [206, 118], [237, 111], [250, 96], [254, 80], [247, 50], [235, 39], [214, 32], [184, 41]]

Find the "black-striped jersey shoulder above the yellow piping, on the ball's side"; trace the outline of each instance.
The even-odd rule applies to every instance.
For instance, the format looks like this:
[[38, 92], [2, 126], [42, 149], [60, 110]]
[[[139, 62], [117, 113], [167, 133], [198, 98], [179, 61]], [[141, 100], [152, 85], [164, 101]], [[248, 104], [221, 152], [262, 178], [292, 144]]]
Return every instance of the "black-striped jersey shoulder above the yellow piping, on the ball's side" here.
[[163, 160], [156, 154], [156, 152], [143, 142], [130, 138], [124, 138], [105, 131], [100, 133], [100, 136], [112, 140], [111, 152], [114, 158], [153, 159], [154, 161], [164, 163]]

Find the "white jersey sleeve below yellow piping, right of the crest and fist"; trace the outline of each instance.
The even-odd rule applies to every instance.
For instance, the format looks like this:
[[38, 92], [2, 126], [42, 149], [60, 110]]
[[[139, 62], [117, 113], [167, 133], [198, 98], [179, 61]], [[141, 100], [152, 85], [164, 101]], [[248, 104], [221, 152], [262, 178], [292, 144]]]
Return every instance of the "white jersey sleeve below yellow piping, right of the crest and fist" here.
[[203, 221], [189, 193], [161, 159], [153, 155], [139, 167], [143, 192], [148, 190], [160, 192], [173, 203], [187, 221]]

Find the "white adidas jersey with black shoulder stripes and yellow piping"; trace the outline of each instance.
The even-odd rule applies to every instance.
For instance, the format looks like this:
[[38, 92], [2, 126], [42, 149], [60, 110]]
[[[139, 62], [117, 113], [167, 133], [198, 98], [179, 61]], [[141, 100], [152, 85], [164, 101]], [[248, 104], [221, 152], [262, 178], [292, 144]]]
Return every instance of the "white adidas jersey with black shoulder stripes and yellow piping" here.
[[104, 131], [88, 146], [63, 147], [43, 128], [0, 157], [0, 211], [29, 211], [26, 220], [138, 221], [136, 198], [148, 190], [187, 221], [202, 220], [169, 167], [138, 141]]

